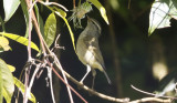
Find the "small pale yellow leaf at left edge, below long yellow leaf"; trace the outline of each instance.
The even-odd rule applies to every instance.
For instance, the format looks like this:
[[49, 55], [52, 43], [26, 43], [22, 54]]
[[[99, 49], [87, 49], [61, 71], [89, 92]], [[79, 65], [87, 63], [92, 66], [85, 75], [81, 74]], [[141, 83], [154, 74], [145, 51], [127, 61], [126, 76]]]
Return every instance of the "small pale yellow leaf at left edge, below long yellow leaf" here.
[[0, 48], [2, 48], [3, 51], [9, 51], [10, 50], [9, 41], [8, 41], [7, 38], [0, 37]]

